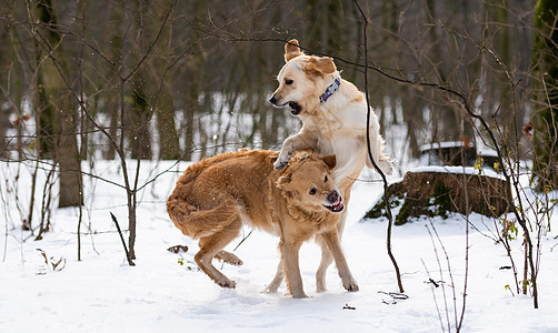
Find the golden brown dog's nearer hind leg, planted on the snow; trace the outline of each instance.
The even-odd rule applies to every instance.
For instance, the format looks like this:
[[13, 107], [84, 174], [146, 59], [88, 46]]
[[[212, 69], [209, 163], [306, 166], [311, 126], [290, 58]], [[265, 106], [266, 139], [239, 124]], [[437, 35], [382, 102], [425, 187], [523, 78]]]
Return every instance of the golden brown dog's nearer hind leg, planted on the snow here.
[[196, 253], [193, 259], [200, 270], [208, 274], [217, 284], [225, 287], [235, 287], [235, 281], [225, 276], [211, 263], [216, 254], [240, 233], [242, 226], [240, 214], [232, 215], [228, 221], [229, 223], [221, 231], [200, 239], [200, 251]]

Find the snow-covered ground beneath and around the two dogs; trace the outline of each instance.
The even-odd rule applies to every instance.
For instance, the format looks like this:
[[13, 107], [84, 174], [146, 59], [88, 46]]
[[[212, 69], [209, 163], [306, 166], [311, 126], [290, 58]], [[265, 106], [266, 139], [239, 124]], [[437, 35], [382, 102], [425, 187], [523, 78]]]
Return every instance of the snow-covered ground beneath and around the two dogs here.
[[[81, 235], [81, 261], [77, 260], [77, 209], [53, 210], [52, 230], [41, 241], [33, 241], [29, 232], [21, 230], [19, 221], [27, 211], [26, 205], [16, 204], [16, 190], [19, 200], [28, 202], [32, 165], [0, 163], [0, 214], [7, 216], [0, 225], [0, 332], [439, 332], [448, 331], [448, 317], [455, 331], [455, 309], [459, 317], [466, 273], [464, 218], [418, 219], [393, 226], [392, 250], [403, 274], [405, 294], [409, 296], [393, 300], [385, 294], [398, 291], [386, 251], [386, 219], [360, 222], [382, 194], [382, 185], [377, 181], [356, 182], [342, 238], [360, 291], [346, 292], [331, 266], [328, 292], [316, 293], [320, 250], [309, 242], [301, 249], [300, 266], [310, 297], [295, 300], [286, 295], [285, 284], [277, 294], [262, 292], [273, 278], [279, 255], [277, 238], [259, 231], [235, 251], [245, 265], [222, 266], [225, 274], [237, 282], [237, 289], [221, 289], [197, 270], [192, 260], [196, 242], [172, 225], [165, 208], [187, 163], [141, 164], [140, 185], [169, 171], [139, 192], [136, 266], [127, 264], [109, 214], [114, 213], [122, 229], [127, 229], [126, 193], [102, 180], [122, 183], [117, 162], [97, 162], [91, 173], [98, 178], [84, 179], [82, 232], [89, 234]], [[129, 165], [136, 168], [132, 161]], [[47, 172], [38, 175], [39, 202]], [[368, 171], [362, 178], [370, 174]], [[37, 221], [40, 212], [34, 216]], [[555, 212], [552, 230], [557, 216]], [[500, 270], [510, 263], [504, 248], [490, 238], [492, 220], [478, 214], [469, 219], [478, 231], [469, 229], [464, 332], [557, 332], [557, 232], [548, 232], [541, 239], [540, 309], [534, 310], [529, 295], [506, 289], [514, 285], [514, 276], [509, 270]], [[432, 225], [439, 241], [429, 234]], [[246, 228], [245, 234], [249, 232]], [[232, 251], [240, 241], [235, 240], [228, 250]], [[167, 251], [177, 244], [188, 245], [189, 251]], [[521, 240], [511, 241], [511, 246], [521, 269]], [[63, 259], [66, 265], [48, 268], [37, 249], [52, 261]], [[217, 266], [221, 269], [220, 263]], [[444, 281], [434, 289], [434, 295], [432, 284], [426, 283], [429, 276]], [[355, 310], [343, 310], [346, 304]]]

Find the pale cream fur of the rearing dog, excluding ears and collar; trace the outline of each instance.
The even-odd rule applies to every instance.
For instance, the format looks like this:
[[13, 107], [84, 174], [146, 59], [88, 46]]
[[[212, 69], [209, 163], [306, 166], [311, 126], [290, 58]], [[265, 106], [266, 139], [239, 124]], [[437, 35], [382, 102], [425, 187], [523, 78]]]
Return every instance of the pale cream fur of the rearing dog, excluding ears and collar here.
[[[288, 162], [296, 150], [312, 149], [321, 154], [336, 154], [338, 167], [335, 176], [337, 182], [347, 178], [357, 178], [363, 168], [373, 169], [366, 147], [366, 99], [355, 84], [341, 79], [339, 89], [323, 103], [319, 97], [339, 77], [339, 71], [323, 77], [308, 79], [303, 63], [309, 56], [299, 56], [289, 60], [280, 70], [279, 88], [273, 93], [279, 105], [297, 102], [302, 107], [299, 114], [302, 129], [288, 138], [281, 148], [276, 167]], [[289, 89], [285, 80], [293, 80]], [[380, 125], [373, 110], [370, 110], [370, 150], [375, 162], [386, 174], [392, 173], [390, 158], [383, 152], [383, 140], [379, 134]]]

